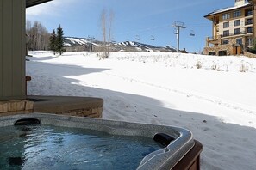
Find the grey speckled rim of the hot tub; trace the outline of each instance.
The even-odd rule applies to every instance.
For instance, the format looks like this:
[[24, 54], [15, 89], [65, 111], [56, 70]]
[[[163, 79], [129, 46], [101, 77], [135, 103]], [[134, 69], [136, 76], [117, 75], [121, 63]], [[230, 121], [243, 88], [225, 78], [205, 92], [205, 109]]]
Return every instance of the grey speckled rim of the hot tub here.
[[[168, 133], [168, 131], [170, 131], [170, 133], [172, 132], [172, 137], [176, 137], [176, 140], [170, 143], [166, 148], [159, 149], [145, 156], [142, 161], [140, 161], [140, 165], [137, 168], [140, 170], [156, 168], [165, 169], [166, 167], [174, 167], [178, 161], [181, 160], [184, 155], [194, 147], [195, 144], [192, 133], [189, 130], [180, 127], [158, 124], [131, 123], [97, 118], [78, 118], [39, 112], [0, 117], [0, 122], [5, 122], [5, 124], [0, 124], [0, 127], [14, 125], [14, 123], [21, 118], [38, 118], [41, 121], [41, 124], [51, 124], [52, 121], [56, 124], [52, 123], [51, 125], [74, 128], [77, 128], [78, 126], [78, 128], [105, 131], [114, 135], [123, 135], [122, 133], [124, 133], [124, 135], [151, 137], [152, 139], [153, 136], [158, 132], [163, 132], [168, 135], [171, 135]], [[66, 121], [69, 121], [69, 125], [65, 124]], [[81, 123], [84, 124], [82, 125]]]

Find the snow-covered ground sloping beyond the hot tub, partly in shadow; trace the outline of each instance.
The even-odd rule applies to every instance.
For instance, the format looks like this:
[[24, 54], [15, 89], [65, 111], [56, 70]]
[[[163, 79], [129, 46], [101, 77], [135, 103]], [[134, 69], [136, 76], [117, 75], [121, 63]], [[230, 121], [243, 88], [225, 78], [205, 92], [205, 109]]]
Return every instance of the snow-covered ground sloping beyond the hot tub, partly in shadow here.
[[167, 124], [203, 143], [201, 167], [256, 169], [256, 59], [179, 53], [30, 52], [28, 94], [95, 96], [103, 118]]

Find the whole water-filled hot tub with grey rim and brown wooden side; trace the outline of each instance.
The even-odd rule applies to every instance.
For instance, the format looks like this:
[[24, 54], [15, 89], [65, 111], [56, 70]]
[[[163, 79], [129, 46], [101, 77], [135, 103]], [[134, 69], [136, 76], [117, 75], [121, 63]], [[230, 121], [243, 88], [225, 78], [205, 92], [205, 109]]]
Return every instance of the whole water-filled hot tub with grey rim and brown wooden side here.
[[[16, 126], [14, 126], [16, 124]], [[45, 130], [38, 130], [38, 126], [46, 126]], [[53, 126], [59, 128], [59, 131], [53, 130]], [[22, 115], [15, 115], [15, 116], [7, 116], [7, 117], [0, 117], [0, 128], [12, 131], [11, 128], [16, 128], [18, 132], [15, 132], [11, 135], [10, 132], [5, 133], [4, 135], [1, 134], [0, 130], [0, 145], [3, 146], [1, 142], [5, 144], [11, 144], [9, 147], [5, 147], [5, 150], [1, 152], [6, 152], [6, 155], [11, 155], [5, 159], [9, 166], [20, 166], [23, 167], [24, 165], [27, 166], [29, 169], [29, 165], [26, 164], [26, 161], [31, 161], [33, 159], [37, 159], [36, 156], [41, 156], [41, 150], [44, 153], [48, 153], [50, 149], [56, 149], [54, 153], [51, 153], [47, 156], [47, 165], [48, 169], [54, 169], [55, 164], [58, 162], [61, 165], [63, 162], [62, 169], [70, 169], [74, 167], [67, 167], [66, 162], [62, 160], [62, 157], [65, 155], [78, 155], [78, 149], [85, 150], [88, 147], [88, 144], [85, 142], [90, 143], [88, 138], [84, 138], [84, 131], [89, 134], [91, 139], [99, 142], [98, 146], [95, 145], [94, 141], [91, 143], [93, 146], [92, 152], [90, 153], [100, 153], [99, 155], [92, 154], [91, 156], [95, 156], [93, 161], [97, 161], [97, 157], [106, 157], [109, 158], [109, 153], [112, 152], [113, 147], [109, 149], [109, 145], [114, 143], [114, 148], [121, 152], [120, 154], [125, 155], [132, 155], [127, 156], [128, 159], [119, 159], [122, 155], [118, 155], [118, 153], [114, 153], [115, 155], [112, 161], [106, 161], [103, 164], [104, 169], [120, 169], [121, 167], [118, 166], [135, 166], [132, 167], [134, 169], [199, 169], [199, 155], [202, 150], [202, 145], [195, 141], [192, 137], [192, 133], [187, 131], [183, 128], [172, 127], [172, 126], [164, 126], [164, 125], [155, 125], [155, 124], [136, 124], [136, 123], [128, 123], [128, 122], [121, 122], [121, 121], [113, 121], [113, 120], [103, 120], [103, 119], [94, 119], [94, 118], [78, 118], [78, 117], [70, 117], [70, 116], [60, 116], [55, 114], [43, 114], [43, 113], [33, 113], [33, 114], [22, 114]], [[67, 128], [67, 129], [66, 129]], [[76, 129], [75, 131], [79, 132], [69, 132], [70, 129]], [[36, 130], [36, 131], [35, 131]], [[34, 133], [29, 132], [34, 131]], [[49, 133], [49, 131], [53, 131], [53, 136], [47, 137], [44, 134]], [[97, 132], [97, 134], [95, 133]], [[103, 133], [103, 134], [102, 134]], [[9, 134], [9, 135], [6, 135]], [[66, 134], [71, 134], [72, 136], [66, 137]], [[83, 134], [83, 135], [81, 135]], [[106, 134], [110, 138], [106, 137]], [[39, 136], [35, 137], [34, 136]], [[58, 137], [55, 135], [59, 135]], [[85, 135], [86, 136], [86, 135]], [[97, 137], [102, 137], [98, 139]], [[22, 139], [18, 140], [18, 142], [10, 143], [8, 140], [11, 140], [13, 137], [21, 137]], [[32, 138], [31, 138], [32, 137]], [[66, 138], [65, 138], [66, 137]], [[78, 138], [76, 138], [78, 137]], [[82, 137], [82, 138], [81, 138]], [[86, 136], [88, 137], [88, 135]], [[46, 145], [45, 139], [47, 138], [47, 143], [49, 141], [53, 141], [51, 145]], [[60, 139], [59, 139], [60, 138]], [[38, 140], [39, 145], [31, 144], [31, 140]], [[75, 140], [76, 139], [76, 140]], [[111, 141], [111, 140], [113, 141]], [[29, 141], [30, 140], [30, 141]], [[63, 145], [64, 148], [58, 148], [57, 145], [54, 147], [54, 143], [61, 140], [61, 146]], [[83, 141], [84, 140], [84, 141]], [[22, 142], [20, 142], [22, 141]], [[65, 141], [65, 142], [63, 142]], [[118, 143], [116, 143], [116, 141]], [[119, 141], [122, 141], [119, 143]], [[123, 142], [124, 141], [124, 142]], [[30, 142], [30, 144], [28, 143]], [[13, 146], [22, 147], [16, 149], [13, 152], [19, 153], [22, 156], [16, 156], [12, 153], [11, 149]], [[68, 145], [67, 145], [68, 144]], [[78, 145], [78, 149], [73, 150], [72, 146], [75, 144]], [[32, 145], [32, 147], [30, 146]], [[151, 146], [152, 145], [152, 146]], [[68, 146], [66, 149], [65, 146]], [[99, 150], [99, 148], [107, 147], [107, 149]], [[134, 148], [132, 148], [134, 147]], [[136, 148], [137, 147], [137, 148]], [[3, 149], [4, 147], [2, 147]], [[118, 149], [119, 148], [119, 149]], [[129, 148], [129, 149], [127, 149]], [[141, 151], [140, 151], [141, 148]], [[30, 150], [29, 150], [30, 149]], [[88, 149], [88, 148], [87, 148]], [[90, 148], [89, 148], [90, 149]], [[143, 149], [146, 149], [143, 150]], [[57, 155], [59, 150], [67, 150], [66, 152], [60, 152]], [[90, 149], [91, 150], [91, 149]], [[121, 150], [121, 151], [120, 151]], [[69, 153], [70, 151], [70, 153]], [[71, 153], [72, 152], [72, 153]], [[136, 157], [136, 152], [139, 153], [139, 157]], [[53, 156], [53, 154], [55, 154]], [[84, 154], [87, 154], [87, 151], [84, 151]], [[47, 154], [44, 154], [47, 155]], [[141, 157], [142, 156], [142, 157]], [[78, 159], [82, 159], [79, 156], [78, 158], [68, 158], [69, 162], [78, 161]], [[3, 159], [3, 158], [2, 158]], [[74, 159], [74, 160], [72, 160]], [[134, 159], [138, 159], [135, 160]], [[4, 160], [4, 159], [3, 159]], [[91, 164], [92, 167], [86, 168], [86, 161], [91, 161], [90, 159], [83, 158], [83, 167], [80, 169], [103, 169], [103, 167], [97, 167], [96, 164]], [[36, 161], [34, 161], [36, 162]], [[32, 161], [32, 163], [34, 163]], [[38, 161], [39, 162], [39, 161]], [[60, 162], [60, 163], [59, 163]], [[129, 165], [130, 162], [134, 162], [133, 165]], [[81, 164], [82, 165], [82, 164]], [[85, 167], [84, 167], [85, 165]], [[31, 166], [31, 165], [30, 165]], [[36, 165], [33, 165], [36, 167]], [[40, 166], [40, 165], [38, 165]], [[93, 166], [95, 168], [93, 168]], [[109, 167], [108, 167], [109, 166]], [[131, 167], [124, 166], [122, 169], [130, 169]], [[0, 164], [1, 167], [1, 164]], [[34, 167], [33, 167], [34, 168]], [[60, 168], [60, 167], [58, 167]], [[79, 167], [75, 167], [79, 169]]]

